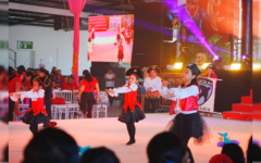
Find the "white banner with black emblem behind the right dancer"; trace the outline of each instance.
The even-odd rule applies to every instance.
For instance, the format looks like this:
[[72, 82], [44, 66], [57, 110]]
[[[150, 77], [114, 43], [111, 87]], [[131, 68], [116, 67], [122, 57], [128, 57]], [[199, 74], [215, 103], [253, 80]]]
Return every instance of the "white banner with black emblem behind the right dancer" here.
[[[215, 101], [215, 85], [216, 82], [221, 80], [217, 78], [204, 78], [199, 77], [199, 111], [201, 112], [209, 112], [209, 113], [216, 113], [214, 112], [214, 101]], [[217, 112], [219, 113], [219, 112]]]

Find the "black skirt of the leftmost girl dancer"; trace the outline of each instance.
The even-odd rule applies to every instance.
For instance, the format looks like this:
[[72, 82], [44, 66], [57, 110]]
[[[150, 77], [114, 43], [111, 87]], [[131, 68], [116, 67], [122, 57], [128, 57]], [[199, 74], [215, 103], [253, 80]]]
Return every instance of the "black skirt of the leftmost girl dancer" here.
[[25, 124], [49, 124], [50, 120], [47, 115], [39, 113], [37, 115], [34, 115], [34, 112], [30, 111], [28, 113], [26, 113], [23, 117], [22, 117], [23, 123]]

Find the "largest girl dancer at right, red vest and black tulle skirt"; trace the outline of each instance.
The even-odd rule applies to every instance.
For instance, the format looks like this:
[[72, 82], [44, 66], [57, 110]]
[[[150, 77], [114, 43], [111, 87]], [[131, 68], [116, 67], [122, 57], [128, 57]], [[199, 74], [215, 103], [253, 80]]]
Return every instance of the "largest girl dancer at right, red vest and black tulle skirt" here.
[[[166, 82], [163, 82], [163, 89], [161, 91], [163, 98], [169, 98], [174, 101], [174, 110], [177, 114], [167, 126], [167, 130], [179, 135], [183, 138], [186, 147], [190, 137], [195, 138], [196, 145], [202, 145], [209, 140], [211, 134], [208, 130], [206, 122], [198, 113], [198, 98], [199, 87], [197, 76], [200, 71], [196, 64], [187, 65], [182, 75], [183, 84], [177, 88], [166, 88]], [[170, 113], [173, 113], [171, 110]], [[189, 152], [190, 163], [194, 163], [194, 158], [190, 149]]]

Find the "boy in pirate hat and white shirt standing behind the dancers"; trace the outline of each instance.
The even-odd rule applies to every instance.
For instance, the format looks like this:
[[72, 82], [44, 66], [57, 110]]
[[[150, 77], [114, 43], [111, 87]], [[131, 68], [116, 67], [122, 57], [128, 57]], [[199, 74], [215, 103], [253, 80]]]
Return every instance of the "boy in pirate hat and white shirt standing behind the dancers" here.
[[158, 73], [161, 72], [160, 67], [152, 65], [147, 71], [149, 77], [145, 79], [144, 86], [146, 88], [146, 98], [145, 98], [145, 112], [148, 112], [148, 109], [151, 104], [152, 112], [156, 112], [156, 103], [160, 98], [161, 91], [161, 78], [158, 77]]

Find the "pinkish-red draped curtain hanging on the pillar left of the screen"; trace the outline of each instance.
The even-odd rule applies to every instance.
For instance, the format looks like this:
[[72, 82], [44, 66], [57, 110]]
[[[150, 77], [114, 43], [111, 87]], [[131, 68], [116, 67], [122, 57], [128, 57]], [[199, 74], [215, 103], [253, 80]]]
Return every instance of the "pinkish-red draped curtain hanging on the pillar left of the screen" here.
[[79, 51], [79, 14], [86, 3], [86, 0], [69, 0], [69, 8], [74, 14], [74, 52], [73, 67], [74, 82], [78, 84], [78, 51]]

